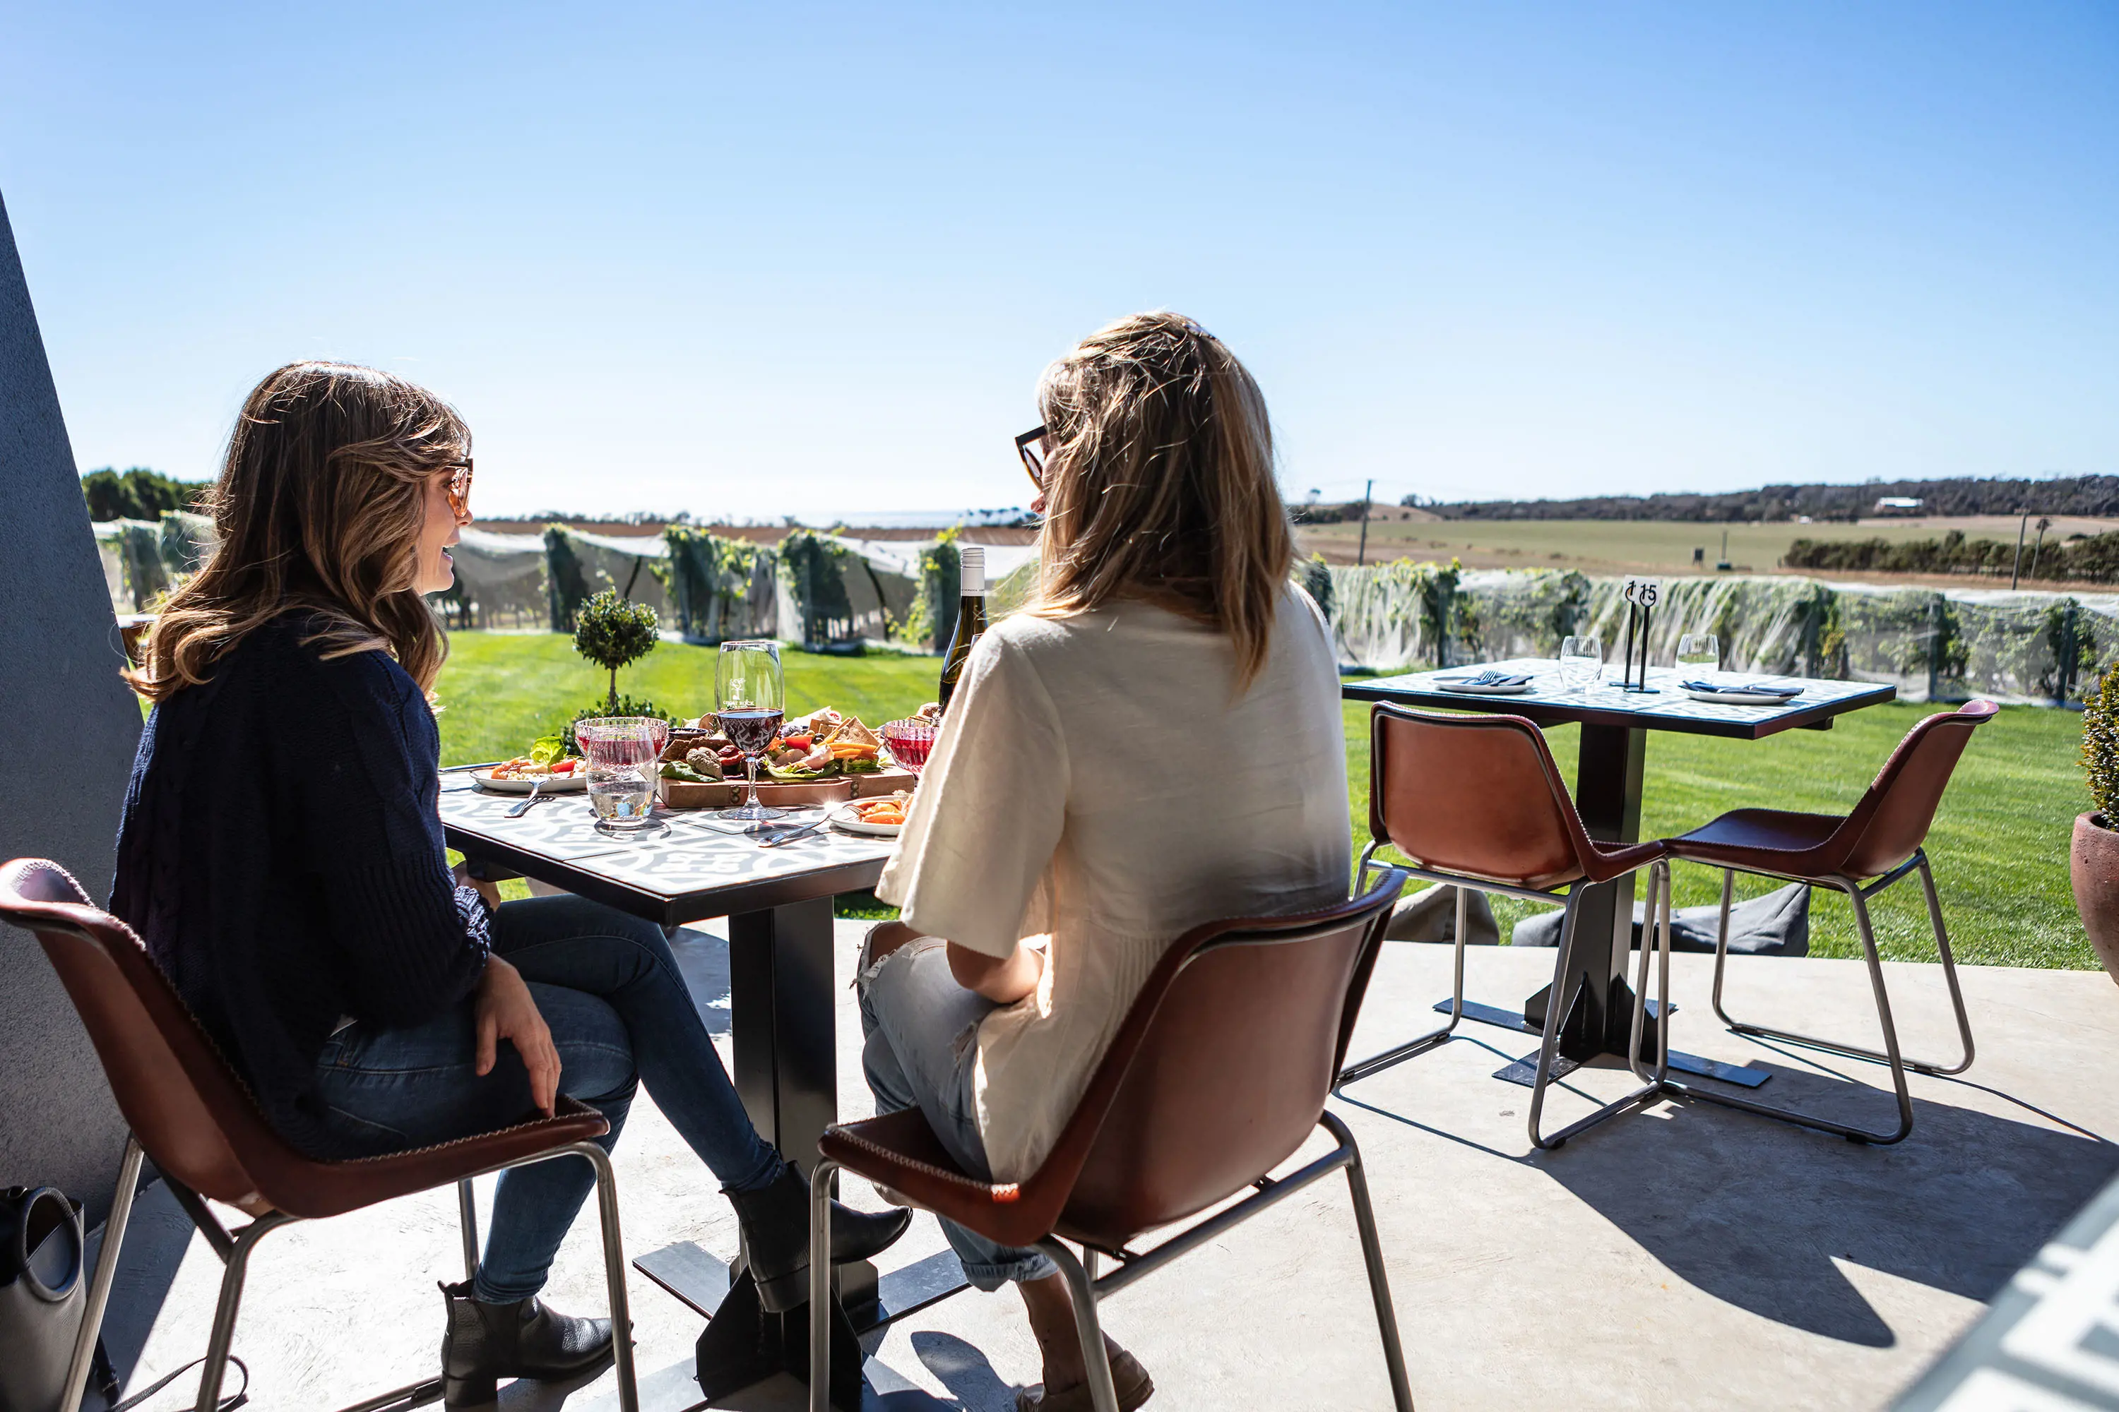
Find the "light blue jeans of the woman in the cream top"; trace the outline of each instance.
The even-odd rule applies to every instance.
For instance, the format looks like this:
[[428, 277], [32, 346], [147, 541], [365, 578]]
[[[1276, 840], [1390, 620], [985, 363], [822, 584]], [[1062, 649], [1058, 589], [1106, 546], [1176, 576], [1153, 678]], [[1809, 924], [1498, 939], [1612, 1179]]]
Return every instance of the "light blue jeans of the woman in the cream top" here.
[[[956, 982], [943, 946], [941, 938], [924, 936], [875, 965], [867, 965], [862, 953], [860, 1067], [877, 1111], [918, 1107], [956, 1164], [992, 1181], [971, 1078], [979, 1063], [979, 1020], [994, 1010], [994, 1001]], [[964, 1266], [964, 1279], [979, 1289], [1060, 1272], [1043, 1251], [998, 1245], [956, 1221], [943, 1221], [941, 1230]]]

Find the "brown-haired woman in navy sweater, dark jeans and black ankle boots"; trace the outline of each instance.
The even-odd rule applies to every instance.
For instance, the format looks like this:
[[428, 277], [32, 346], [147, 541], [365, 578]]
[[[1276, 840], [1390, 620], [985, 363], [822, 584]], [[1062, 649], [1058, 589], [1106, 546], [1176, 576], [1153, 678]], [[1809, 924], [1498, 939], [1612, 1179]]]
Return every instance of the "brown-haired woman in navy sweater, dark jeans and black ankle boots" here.
[[[500, 1128], [562, 1092], [604, 1111], [608, 1147], [646, 1082], [735, 1205], [761, 1302], [793, 1308], [807, 1183], [750, 1126], [661, 927], [451, 876], [424, 595], [453, 582], [468, 500], [470, 432], [430, 392], [333, 362], [259, 383], [214, 487], [220, 544], [129, 677], [155, 709], [110, 910], [318, 1158]], [[477, 1279], [445, 1287], [449, 1406], [608, 1355], [608, 1319], [536, 1298], [591, 1185], [587, 1162], [500, 1177]], [[845, 1221], [833, 1255], [860, 1260], [909, 1213]]]

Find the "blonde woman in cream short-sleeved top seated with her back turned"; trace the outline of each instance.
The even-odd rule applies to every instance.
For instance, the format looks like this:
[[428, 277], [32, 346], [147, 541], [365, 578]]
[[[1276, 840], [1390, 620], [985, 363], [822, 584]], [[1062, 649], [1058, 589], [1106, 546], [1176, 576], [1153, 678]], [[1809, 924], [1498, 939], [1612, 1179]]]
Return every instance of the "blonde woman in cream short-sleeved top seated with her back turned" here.
[[[1055, 362], [1017, 445], [1047, 512], [1032, 612], [971, 656], [877, 893], [862, 1054], [994, 1181], [1036, 1171], [1163, 948], [1216, 917], [1346, 900], [1339, 673], [1293, 540], [1257, 383], [1174, 313]], [[962, 1228], [1045, 1359], [1021, 1408], [1089, 1408], [1066, 1285]], [[1119, 1401], [1153, 1393], [1112, 1348]]]

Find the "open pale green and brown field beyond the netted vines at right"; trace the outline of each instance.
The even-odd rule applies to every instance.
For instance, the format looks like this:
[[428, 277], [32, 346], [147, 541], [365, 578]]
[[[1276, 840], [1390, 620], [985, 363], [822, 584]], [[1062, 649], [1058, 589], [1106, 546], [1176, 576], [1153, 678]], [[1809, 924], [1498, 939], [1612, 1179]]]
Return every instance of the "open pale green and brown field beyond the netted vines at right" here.
[[[1733, 525], [1693, 525], [1678, 521], [1439, 521], [1396, 519], [1394, 506], [1377, 506], [1382, 517], [1369, 521], [1369, 563], [1384, 559], [1462, 559], [1468, 569], [1579, 569], [1583, 574], [1693, 574], [1693, 550], [1706, 550], [1706, 572], [1721, 557], [1723, 531], [1729, 533], [1729, 563], [1738, 574], [1774, 574], [1788, 544], [1812, 540], [1939, 540], [1958, 529], [1966, 540], [2015, 540], [2015, 517], [1964, 514], [1926, 519], [1875, 519], [1854, 525], [1795, 525], [1788, 521]], [[2045, 542], [2070, 533], [2104, 533], [2119, 521], [2055, 519]], [[1303, 550], [1324, 555], [1333, 563], [1354, 563], [1360, 525], [1303, 525], [1297, 531]], [[2024, 546], [2030, 563], [2030, 544]], [[1841, 576], [1848, 578], [1848, 576]], [[1909, 574], [1856, 574], [1875, 582], [1926, 582], [1954, 586], [1996, 586], [1992, 578], [1933, 578]], [[2002, 578], [2002, 589], [2009, 580]], [[2087, 584], [2036, 584], [2041, 589], [2075, 589]]]

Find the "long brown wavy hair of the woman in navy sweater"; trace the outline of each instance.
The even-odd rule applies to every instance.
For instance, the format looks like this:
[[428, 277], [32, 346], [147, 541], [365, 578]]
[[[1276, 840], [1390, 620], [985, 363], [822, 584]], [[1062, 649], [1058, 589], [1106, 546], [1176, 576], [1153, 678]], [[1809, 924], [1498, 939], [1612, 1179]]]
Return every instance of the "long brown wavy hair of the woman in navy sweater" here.
[[220, 544], [125, 680], [165, 701], [252, 629], [307, 610], [303, 641], [326, 658], [384, 648], [430, 690], [449, 646], [415, 589], [426, 485], [468, 451], [456, 409], [403, 377], [343, 362], [273, 373], [229, 436], [210, 500]]

